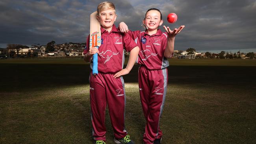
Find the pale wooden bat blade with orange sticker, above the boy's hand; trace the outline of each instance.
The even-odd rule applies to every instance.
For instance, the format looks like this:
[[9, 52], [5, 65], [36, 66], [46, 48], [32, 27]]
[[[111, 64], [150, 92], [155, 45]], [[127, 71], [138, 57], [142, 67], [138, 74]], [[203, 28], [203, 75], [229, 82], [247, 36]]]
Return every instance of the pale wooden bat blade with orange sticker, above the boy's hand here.
[[101, 44], [101, 31], [100, 22], [97, 20], [97, 11], [91, 14], [90, 20], [90, 48], [100, 46]]

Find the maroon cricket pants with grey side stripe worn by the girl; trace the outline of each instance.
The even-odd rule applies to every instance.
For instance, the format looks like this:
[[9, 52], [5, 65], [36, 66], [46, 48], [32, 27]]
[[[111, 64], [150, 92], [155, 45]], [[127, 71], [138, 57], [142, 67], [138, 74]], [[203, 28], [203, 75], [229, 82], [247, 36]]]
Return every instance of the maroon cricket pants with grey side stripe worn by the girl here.
[[143, 135], [144, 144], [153, 144], [156, 138], [162, 137], [159, 121], [167, 91], [167, 80], [167, 68], [148, 70], [145, 66], [139, 67], [139, 94], [147, 121]]

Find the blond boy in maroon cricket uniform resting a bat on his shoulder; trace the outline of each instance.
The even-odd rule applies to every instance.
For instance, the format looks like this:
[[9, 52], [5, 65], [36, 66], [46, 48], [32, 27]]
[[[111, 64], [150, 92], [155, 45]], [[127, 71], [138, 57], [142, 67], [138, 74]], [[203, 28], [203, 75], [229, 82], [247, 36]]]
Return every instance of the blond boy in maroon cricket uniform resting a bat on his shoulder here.
[[[117, 15], [113, 3], [100, 3], [97, 12], [97, 19], [101, 25], [102, 44], [98, 49], [96, 47], [88, 49], [88, 37], [87, 49], [84, 50], [86, 62], [91, 61], [93, 54], [98, 54], [98, 75], [93, 76], [91, 72], [89, 77], [93, 139], [96, 144], [106, 144], [105, 110], [108, 104], [114, 141], [117, 144], [134, 144], [124, 126], [126, 96], [122, 75], [128, 74], [134, 66], [139, 47], [129, 35], [121, 34], [115, 27]], [[130, 57], [126, 68], [122, 69], [124, 48], [130, 52]]]

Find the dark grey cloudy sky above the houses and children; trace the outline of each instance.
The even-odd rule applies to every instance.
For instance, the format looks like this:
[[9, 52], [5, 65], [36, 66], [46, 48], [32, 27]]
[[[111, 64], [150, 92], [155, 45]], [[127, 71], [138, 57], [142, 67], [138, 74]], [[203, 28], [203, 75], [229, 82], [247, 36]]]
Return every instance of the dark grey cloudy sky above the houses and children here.
[[[6, 44], [85, 42], [89, 15], [102, 0], [1, 0], [0, 47]], [[143, 30], [149, 8], [158, 8], [165, 26], [186, 27], [176, 36], [175, 49], [197, 51], [253, 49], [256, 52], [256, 0], [112, 0], [117, 21]], [[166, 17], [176, 13], [169, 24]], [[162, 26], [161, 30], [164, 30]]]

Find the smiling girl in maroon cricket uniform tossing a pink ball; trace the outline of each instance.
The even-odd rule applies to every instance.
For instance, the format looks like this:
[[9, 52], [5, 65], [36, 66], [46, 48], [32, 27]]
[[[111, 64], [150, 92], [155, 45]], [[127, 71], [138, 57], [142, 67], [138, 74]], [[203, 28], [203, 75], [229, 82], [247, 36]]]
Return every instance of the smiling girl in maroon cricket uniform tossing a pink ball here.
[[159, 127], [167, 91], [169, 62], [173, 56], [175, 36], [185, 26], [175, 28], [163, 26], [165, 33], [159, 28], [163, 24], [159, 9], [148, 9], [143, 20], [145, 31], [129, 31], [124, 22], [119, 24], [122, 33], [128, 33], [139, 46], [137, 58], [139, 67], [139, 93], [143, 113], [147, 121], [143, 135], [144, 144], [161, 144], [162, 131]]

